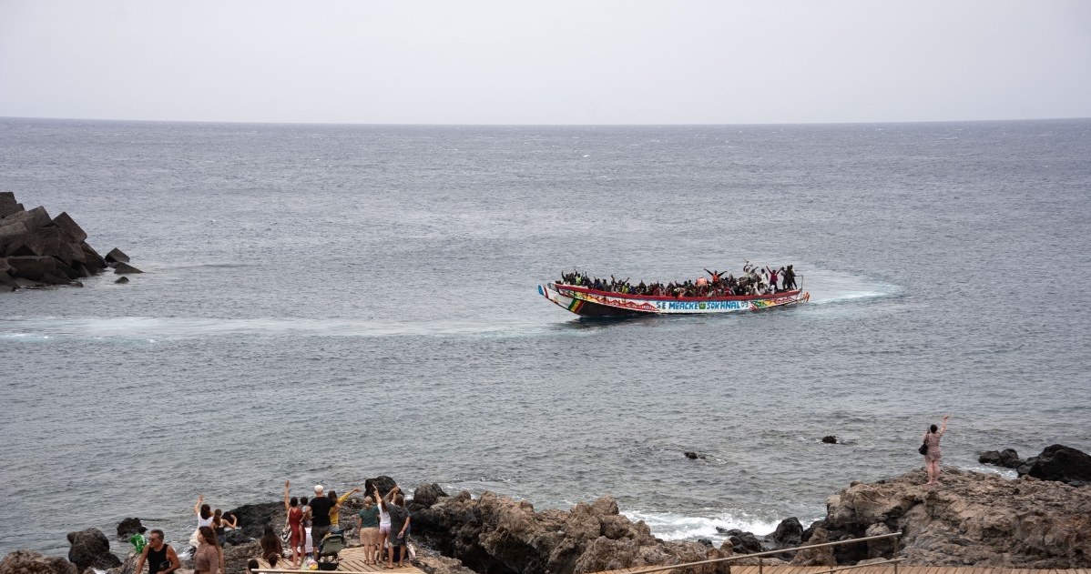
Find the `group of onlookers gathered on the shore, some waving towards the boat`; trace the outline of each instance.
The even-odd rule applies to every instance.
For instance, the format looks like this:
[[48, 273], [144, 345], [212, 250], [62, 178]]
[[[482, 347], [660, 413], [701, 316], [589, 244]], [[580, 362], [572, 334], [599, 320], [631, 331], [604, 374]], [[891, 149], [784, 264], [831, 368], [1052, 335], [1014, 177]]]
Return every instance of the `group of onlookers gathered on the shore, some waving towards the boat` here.
[[[277, 562], [289, 553], [292, 569], [303, 567], [309, 559], [317, 561], [322, 542], [331, 535], [340, 536], [343, 533], [339, 524], [341, 505], [349, 497], [363, 490], [353, 488], [338, 497], [337, 492], [326, 492], [322, 485], [315, 485], [314, 496], [308, 498], [290, 496], [290, 488], [291, 483], [285, 480], [284, 509], [287, 517], [284, 528], [287, 535], [281, 539], [276, 528], [269, 524], [265, 525], [259, 539], [261, 558], [272, 567], [277, 567]], [[197, 518], [197, 527], [190, 538], [190, 546], [194, 548], [194, 573], [224, 574], [227, 529], [237, 528], [238, 520], [225, 516], [219, 510], [212, 510], [204, 503], [204, 496], [197, 497], [193, 512]], [[385, 558], [385, 569], [393, 569], [395, 562], [398, 567], [405, 566], [409, 552], [410, 516], [400, 487], [395, 486], [385, 496], [380, 494], [377, 487], [373, 488], [372, 493], [364, 497], [363, 506], [356, 515], [356, 523], [360, 530], [365, 564], [377, 565]], [[136, 574], [142, 574], [145, 562], [148, 574], [172, 574], [181, 567], [178, 553], [164, 541], [163, 530], [155, 528], [147, 532], [146, 536], [139, 533], [130, 541], [140, 554], [133, 571]], [[285, 551], [285, 544], [288, 545], [288, 552]], [[248, 564], [249, 571], [257, 567], [260, 564], [256, 560], [251, 560]]]

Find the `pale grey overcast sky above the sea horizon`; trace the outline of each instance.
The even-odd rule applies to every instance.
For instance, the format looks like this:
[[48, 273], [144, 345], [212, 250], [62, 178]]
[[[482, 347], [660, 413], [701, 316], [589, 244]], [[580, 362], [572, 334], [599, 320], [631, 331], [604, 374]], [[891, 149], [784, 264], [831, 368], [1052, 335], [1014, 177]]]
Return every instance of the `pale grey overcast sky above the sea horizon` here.
[[0, 117], [1091, 117], [1091, 0], [0, 0]]

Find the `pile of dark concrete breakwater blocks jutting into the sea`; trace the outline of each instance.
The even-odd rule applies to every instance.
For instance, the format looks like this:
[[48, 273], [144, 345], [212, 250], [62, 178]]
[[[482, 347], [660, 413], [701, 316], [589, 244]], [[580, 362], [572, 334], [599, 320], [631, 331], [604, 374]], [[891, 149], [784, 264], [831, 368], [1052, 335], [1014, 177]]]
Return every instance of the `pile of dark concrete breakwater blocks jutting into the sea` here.
[[0, 292], [44, 285], [82, 286], [80, 278], [125, 265], [117, 273], [143, 272], [112, 249], [107, 259], [87, 244], [87, 232], [65, 211], [50, 218], [45, 207], [24, 209], [12, 192], [0, 192]]

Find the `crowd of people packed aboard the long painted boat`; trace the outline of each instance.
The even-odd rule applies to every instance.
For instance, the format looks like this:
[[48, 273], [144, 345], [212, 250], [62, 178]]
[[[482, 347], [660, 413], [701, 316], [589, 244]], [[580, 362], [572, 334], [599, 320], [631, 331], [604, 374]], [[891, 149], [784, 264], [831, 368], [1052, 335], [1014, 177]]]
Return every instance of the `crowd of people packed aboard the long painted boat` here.
[[572, 272], [561, 271], [560, 283], [565, 285], [584, 286], [596, 291], [609, 291], [612, 293], [623, 293], [633, 295], [652, 295], [668, 297], [726, 297], [734, 295], [770, 295], [784, 291], [793, 291], [795, 286], [795, 270], [791, 265], [774, 269], [769, 266], [758, 267], [745, 261], [743, 272], [739, 277], [720, 271], [709, 271], [708, 278], [704, 276], [696, 280], [671, 281], [660, 283], [658, 281], [645, 283], [643, 280], [637, 284], [632, 284], [630, 280], [619, 281], [614, 276], [609, 280], [588, 277], [578, 270]]

